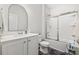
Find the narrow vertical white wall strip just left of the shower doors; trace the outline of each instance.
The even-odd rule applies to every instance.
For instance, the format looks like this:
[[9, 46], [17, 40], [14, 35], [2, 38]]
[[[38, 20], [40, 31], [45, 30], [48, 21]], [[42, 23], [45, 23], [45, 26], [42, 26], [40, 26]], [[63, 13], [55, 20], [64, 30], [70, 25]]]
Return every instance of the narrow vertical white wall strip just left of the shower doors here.
[[48, 19], [48, 14], [50, 13], [50, 8], [46, 5], [42, 5], [42, 38], [46, 38], [46, 20]]

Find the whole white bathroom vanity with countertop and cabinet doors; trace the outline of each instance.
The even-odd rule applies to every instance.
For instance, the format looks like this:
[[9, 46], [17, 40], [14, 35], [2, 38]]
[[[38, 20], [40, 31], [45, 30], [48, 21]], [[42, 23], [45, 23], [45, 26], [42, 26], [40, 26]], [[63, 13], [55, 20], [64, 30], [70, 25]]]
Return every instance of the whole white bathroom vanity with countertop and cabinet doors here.
[[38, 34], [18, 34], [0, 39], [1, 55], [38, 55]]

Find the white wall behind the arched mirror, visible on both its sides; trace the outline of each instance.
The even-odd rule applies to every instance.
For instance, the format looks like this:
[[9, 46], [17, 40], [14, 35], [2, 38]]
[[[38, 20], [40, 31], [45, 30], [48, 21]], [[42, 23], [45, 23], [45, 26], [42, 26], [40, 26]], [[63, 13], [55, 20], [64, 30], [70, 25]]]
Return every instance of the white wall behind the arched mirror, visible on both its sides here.
[[[42, 32], [42, 5], [40, 4], [22, 4], [28, 13], [28, 27], [31, 32]], [[8, 7], [9, 4], [1, 4], [3, 8], [4, 31], [8, 31]]]

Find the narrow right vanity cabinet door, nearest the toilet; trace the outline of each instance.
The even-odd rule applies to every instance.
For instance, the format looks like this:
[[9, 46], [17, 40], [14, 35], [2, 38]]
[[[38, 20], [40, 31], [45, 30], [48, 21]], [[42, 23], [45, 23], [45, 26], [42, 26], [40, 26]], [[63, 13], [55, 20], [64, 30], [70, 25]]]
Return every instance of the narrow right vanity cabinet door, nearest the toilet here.
[[38, 55], [38, 36], [28, 38], [28, 55]]

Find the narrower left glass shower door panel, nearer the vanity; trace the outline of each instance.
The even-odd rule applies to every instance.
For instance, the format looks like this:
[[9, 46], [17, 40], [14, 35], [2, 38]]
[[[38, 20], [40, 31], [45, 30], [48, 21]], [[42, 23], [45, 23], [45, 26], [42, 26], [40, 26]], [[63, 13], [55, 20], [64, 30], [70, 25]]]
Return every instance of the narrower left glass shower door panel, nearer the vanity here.
[[47, 38], [57, 40], [57, 17], [47, 20]]

